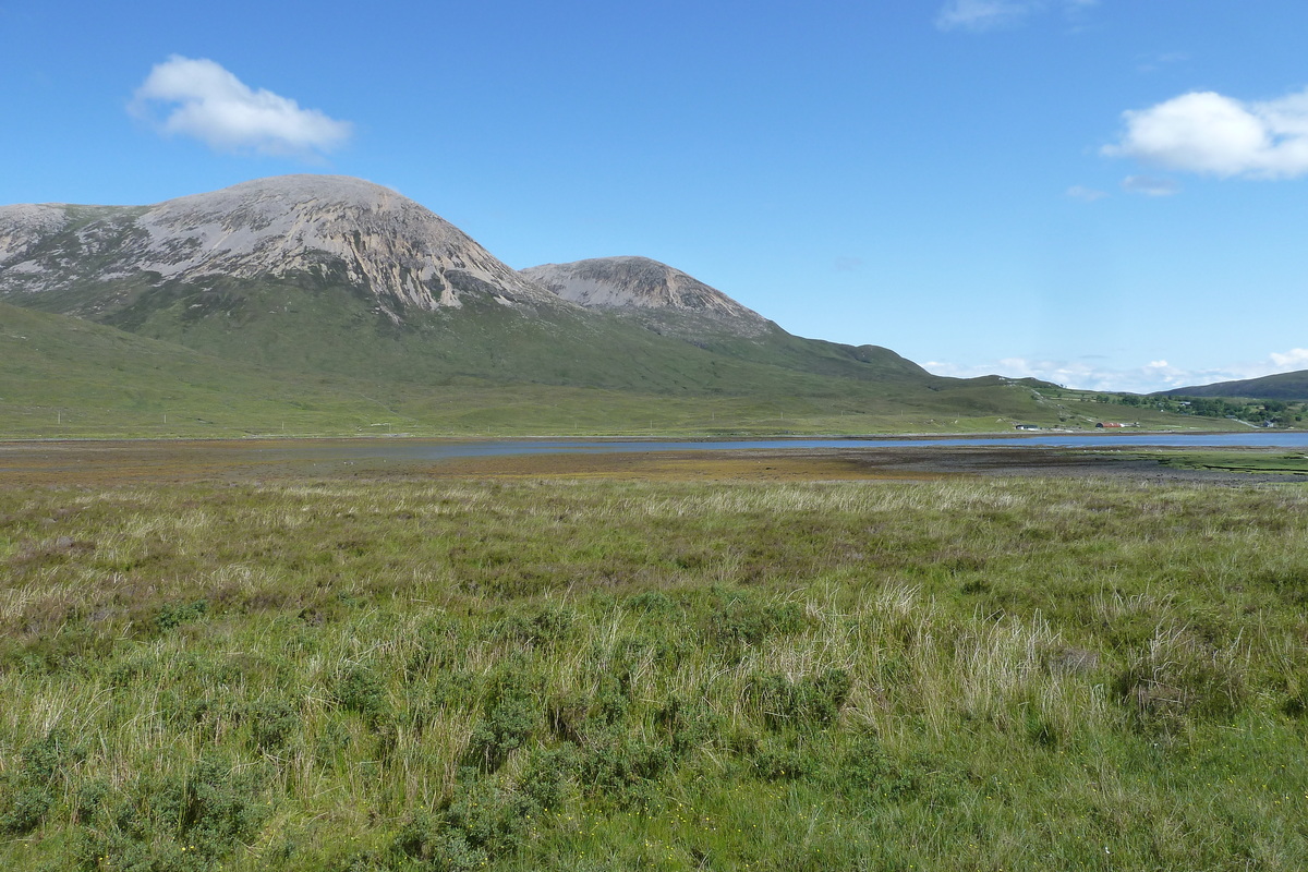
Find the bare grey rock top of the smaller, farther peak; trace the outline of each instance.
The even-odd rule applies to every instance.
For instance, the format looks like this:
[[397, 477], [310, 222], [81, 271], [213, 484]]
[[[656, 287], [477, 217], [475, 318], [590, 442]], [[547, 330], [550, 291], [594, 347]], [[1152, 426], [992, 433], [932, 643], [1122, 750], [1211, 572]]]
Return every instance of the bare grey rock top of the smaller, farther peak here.
[[744, 336], [776, 329], [752, 309], [687, 273], [649, 258], [594, 258], [522, 271], [561, 298], [587, 309], [683, 315]]

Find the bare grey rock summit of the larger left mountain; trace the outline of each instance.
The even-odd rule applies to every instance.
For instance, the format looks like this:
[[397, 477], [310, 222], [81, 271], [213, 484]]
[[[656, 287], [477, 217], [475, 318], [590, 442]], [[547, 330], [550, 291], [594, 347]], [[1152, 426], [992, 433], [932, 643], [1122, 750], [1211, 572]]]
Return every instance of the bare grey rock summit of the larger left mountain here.
[[[559, 299], [395, 191], [334, 175], [246, 182], [153, 207], [0, 208], [0, 298], [148, 276], [339, 280], [382, 310]], [[17, 302], [17, 301], [14, 301]]]

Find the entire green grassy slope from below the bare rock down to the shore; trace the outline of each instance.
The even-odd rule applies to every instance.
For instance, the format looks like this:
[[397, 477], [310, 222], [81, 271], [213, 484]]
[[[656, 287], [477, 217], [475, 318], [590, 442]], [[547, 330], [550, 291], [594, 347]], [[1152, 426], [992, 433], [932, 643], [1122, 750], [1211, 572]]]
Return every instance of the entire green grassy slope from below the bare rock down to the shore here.
[[124, 293], [103, 318], [131, 336], [0, 303], [0, 435], [980, 431], [1103, 413], [781, 331], [691, 344], [613, 315], [471, 305], [396, 326], [339, 288], [268, 282]]

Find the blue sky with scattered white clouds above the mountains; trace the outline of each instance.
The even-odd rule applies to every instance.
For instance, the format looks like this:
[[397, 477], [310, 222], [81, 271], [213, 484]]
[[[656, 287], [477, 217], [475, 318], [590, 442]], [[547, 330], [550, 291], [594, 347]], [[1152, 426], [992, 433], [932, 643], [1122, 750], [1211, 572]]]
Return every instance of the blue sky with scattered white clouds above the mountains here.
[[1308, 369], [1301, 0], [0, 0], [0, 203], [391, 186], [954, 375]]

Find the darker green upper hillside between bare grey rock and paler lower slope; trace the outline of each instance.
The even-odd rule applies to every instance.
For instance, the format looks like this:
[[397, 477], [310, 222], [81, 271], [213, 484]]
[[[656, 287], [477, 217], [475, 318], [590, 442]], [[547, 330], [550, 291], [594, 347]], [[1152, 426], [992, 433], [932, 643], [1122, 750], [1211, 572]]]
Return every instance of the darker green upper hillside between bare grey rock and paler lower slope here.
[[82, 314], [133, 333], [277, 370], [447, 384], [500, 383], [747, 395], [844, 392], [836, 379], [943, 382], [893, 352], [804, 340], [774, 329], [696, 341], [613, 314], [536, 312], [470, 298], [459, 309], [405, 311], [309, 277], [149, 284], [144, 277], [39, 294], [24, 305]]

